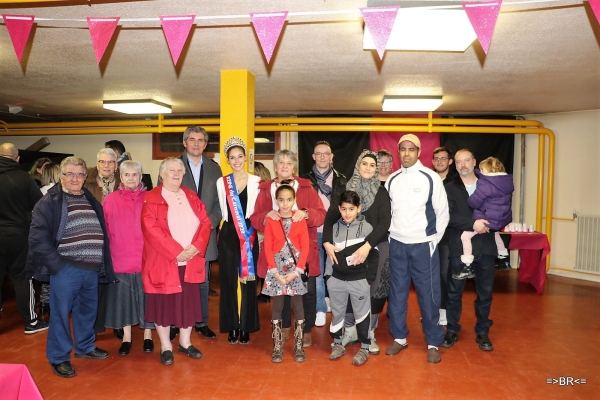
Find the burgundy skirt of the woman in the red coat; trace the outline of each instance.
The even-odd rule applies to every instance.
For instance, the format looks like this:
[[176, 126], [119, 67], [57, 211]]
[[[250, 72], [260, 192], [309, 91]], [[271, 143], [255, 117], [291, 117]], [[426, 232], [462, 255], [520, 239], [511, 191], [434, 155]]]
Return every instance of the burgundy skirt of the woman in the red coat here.
[[146, 321], [159, 326], [174, 325], [189, 328], [202, 322], [200, 284], [184, 281], [185, 265], [179, 267], [181, 292], [173, 294], [148, 294], [146, 298]]

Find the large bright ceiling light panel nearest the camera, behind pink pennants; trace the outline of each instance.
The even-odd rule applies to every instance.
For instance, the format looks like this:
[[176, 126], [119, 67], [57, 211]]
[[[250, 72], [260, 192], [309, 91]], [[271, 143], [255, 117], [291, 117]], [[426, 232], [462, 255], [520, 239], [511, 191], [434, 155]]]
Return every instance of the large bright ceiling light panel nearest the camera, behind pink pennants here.
[[[405, 8], [398, 10], [386, 50], [465, 51], [477, 39], [463, 10]], [[374, 50], [365, 26], [363, 49]]]

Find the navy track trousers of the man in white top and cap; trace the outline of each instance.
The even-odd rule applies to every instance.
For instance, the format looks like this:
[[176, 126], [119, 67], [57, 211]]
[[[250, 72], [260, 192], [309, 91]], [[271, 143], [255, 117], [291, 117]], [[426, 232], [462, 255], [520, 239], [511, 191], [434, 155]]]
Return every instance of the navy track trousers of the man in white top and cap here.
[[428, 345], [439, 346], [444, 341], [444, 327], [438, 325], [441, 298], [438, 248], [431, 242], [406, 244], [390, 239], [388, 315], [394, 339], [408, 336], [406, 314], [411, 280], [421, 309], [425, 341]]

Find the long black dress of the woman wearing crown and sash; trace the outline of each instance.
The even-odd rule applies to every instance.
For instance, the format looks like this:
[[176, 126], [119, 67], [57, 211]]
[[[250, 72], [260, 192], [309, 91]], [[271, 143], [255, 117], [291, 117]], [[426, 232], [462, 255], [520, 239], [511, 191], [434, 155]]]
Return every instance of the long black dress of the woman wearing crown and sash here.
[[[245, 188], [239, 193], [239, 198], [245, 215], [248, 203], [248, 191]], [[246, 227], [250, 228], [252, 226], [249, 219], [245, 222]], [[247, 280], [246, 283], [240, 282], [242, 302], [241, 312], [238, 313], [237, 288], [240, 269], [240, 240], [233, 224], [229, 203], [227, 203], [227, 221], [223, 221], [217, 246], [219, 249], [219, 277], [221, 280], [219, 331], [226, 333], [240, 329], [244, 332], [256, 332], [260, 329], [258, 302], [256, 300], [256, 280]], [[252, 256], [256, 272], [258, 265], [258, 235], [255, 235]]]

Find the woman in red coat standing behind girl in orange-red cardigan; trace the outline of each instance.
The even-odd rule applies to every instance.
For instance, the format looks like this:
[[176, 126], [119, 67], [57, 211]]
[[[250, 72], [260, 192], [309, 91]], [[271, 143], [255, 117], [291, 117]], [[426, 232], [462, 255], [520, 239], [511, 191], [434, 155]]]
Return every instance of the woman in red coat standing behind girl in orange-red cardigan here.
[[[317, 244], [317, 227], [323, 225], [327, 211], [323, 208], [323, 203], [312, 187], [308, 179], [302, 179], [294, 175], [298, 169], [298, 158], [290, 150], [279, 150], [273, 158], [273, 165], [277, 177], [269, 182], [261, 182], [259, 185], [258, 198], [254, 206], [254, 213], [250, 217], [254, 229], [260, 232], [265, 231], [267, 218], [275, 221], [279, 220], [277, 202], [275, 201], [275, 190], [281, 184], [288, 184], [296, 191], [296, 204], [294, 206], [293, 221], [306, 219], [308, 225], [308, 238], [310, 250], [308, 253], [309, 275], [307, 289], [308, 292], [302, 296], [304, 306], [304, 347], [312, 344], [311, 330], [315, 326], [317, 310], [317, 289], [316, 277], [321, 273], [319, 260], [319, 246]], [[261, 244], [260, 254], [258, 256], [258, 276], [264, 278], [267, 272], [267, 260]], [[286, 298], [283, 309], [283, 338], [290, 336], [291, 312], [289, 297]]]

